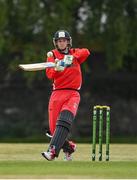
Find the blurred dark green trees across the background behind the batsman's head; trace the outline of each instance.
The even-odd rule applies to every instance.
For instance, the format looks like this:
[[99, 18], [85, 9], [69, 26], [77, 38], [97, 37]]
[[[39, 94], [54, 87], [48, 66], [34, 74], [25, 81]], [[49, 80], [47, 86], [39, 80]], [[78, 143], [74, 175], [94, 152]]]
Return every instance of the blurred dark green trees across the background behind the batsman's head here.
[[43, 61], [53, 33], [62, 28], [75, 37], [74, 46], [104, 52], [110, 70], [130, 64], [137, 71], [136, 22], [136, 0], [0, 0], [1, 68], [9, 77], [19, 63]]

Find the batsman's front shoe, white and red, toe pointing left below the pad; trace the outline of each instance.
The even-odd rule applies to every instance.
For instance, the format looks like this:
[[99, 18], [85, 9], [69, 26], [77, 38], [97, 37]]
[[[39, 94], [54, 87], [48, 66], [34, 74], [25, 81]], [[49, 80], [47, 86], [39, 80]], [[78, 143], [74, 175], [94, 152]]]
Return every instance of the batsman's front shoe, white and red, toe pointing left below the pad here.
[[51, 146], [48, 151], [41, 153], [44, 158], [48, 161], [52, 161], [55, 159], [55, 146]]

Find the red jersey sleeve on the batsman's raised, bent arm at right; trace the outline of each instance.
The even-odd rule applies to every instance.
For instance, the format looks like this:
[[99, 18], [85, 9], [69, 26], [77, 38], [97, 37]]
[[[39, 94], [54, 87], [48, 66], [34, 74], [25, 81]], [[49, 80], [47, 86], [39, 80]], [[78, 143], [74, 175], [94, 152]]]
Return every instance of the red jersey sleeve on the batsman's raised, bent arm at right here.
[[90, 55], [90, 51], [86, 48], [76, 49], [73, 56], [78, 60], [79, 64], [83, 63]]

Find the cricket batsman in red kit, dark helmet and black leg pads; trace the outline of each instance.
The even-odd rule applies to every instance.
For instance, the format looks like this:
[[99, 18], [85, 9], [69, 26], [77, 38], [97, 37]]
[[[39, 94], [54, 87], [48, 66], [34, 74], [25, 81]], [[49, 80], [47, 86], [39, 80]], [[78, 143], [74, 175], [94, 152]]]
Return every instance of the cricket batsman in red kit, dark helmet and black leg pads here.
[[55, 49], [47, 53], [47, 61], [56, 63], [47, 68], [46, 75], [53, 81], [49, 100], [49, 128], [52, 135], [48, 150], [42, 152], [47, 160], [54, 160], [63, 149], [65, 160], [72, 160], [76, 144], [68, 141], [68, 134], [76, 116], [82, 84], [80, 65], [90, 52], [86, 48], [72, 48], [72, 38], [66, 30], [59, 30], [53, 37]]

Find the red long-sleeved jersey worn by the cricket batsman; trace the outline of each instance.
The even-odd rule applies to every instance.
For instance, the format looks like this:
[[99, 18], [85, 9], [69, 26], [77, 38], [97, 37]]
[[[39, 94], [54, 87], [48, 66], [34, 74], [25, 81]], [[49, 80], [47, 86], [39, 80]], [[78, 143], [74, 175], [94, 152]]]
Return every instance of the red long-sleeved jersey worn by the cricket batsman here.
[[[60, 53], [57, 49], [52, 50], [54, 56], [48, 57], [48, 62], [55, 62], [55, 58], [63, 60], [64, 54]], [[46, 75], [49, 79], [53, 79], [53, 90], [56, 89], [76, 89], [79, 90], [82, 84], [82, 75], [80, 64], [83, 63], [90, 52], [86, 48], [70, 49], [69, 55], [73, 55], [73, 64], [66, 67], [64, 71], [58, 72], [54, 68], [47, 68]]]

